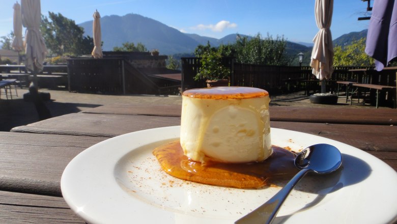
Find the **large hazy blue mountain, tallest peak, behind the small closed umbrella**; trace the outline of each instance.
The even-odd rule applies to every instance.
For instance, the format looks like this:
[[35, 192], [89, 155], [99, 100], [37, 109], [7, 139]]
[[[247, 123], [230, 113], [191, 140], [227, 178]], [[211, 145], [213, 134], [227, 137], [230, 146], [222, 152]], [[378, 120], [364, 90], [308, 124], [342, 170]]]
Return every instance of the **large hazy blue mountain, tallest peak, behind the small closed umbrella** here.
[[[92, 20], [78, 24], [84, 35], [92, 36]], [[104, 16], [101, 18], [103, 50], [112, 50], [125, 42], [143, 43], [148, 50], [162, 54], [192, 52], [198, 42], [159, 21], [137, 14]]]

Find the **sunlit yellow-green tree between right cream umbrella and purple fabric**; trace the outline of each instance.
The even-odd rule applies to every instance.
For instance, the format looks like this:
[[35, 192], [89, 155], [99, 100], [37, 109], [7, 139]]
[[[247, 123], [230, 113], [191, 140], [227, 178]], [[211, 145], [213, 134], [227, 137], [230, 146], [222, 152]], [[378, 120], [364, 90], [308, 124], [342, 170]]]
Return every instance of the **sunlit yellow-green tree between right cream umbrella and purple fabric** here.
[[366, 38], [361, 38], [352, 41], [350, 45], [345, 47], [335, 46], [333, 48], [334, 66], [373, 66], [374, 59], [364, 52], [365, 40]]

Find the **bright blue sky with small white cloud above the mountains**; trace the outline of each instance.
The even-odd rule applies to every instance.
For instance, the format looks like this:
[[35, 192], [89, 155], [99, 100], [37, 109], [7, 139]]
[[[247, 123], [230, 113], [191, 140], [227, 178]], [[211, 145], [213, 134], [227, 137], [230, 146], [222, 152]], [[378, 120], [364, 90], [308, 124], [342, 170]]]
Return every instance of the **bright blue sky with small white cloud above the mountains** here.
[[[1, 0], [0, 36], [12, 31], [15, 0]], [[19, 1], [20, 3], [20, 1]], [[315, 0], [41, 0], [41, 12], [61, 13], [77, 24], [102, 17], [135, 13], [158, 20], [185, 33], [222, 38], [228, 34], [283, 35], [289, 41], [311, 43], [318, 28]], [[332, 38], [367, 29], [366, 2], [335, 0]], [[103, 32], [103, 31], [102, 31]]]

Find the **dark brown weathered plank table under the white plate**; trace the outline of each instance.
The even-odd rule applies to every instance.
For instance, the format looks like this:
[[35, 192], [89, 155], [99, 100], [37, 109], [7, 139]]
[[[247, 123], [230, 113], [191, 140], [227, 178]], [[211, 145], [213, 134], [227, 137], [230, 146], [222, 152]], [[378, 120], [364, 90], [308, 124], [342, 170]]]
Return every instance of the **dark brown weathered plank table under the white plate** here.
[[[69, 161], [120, 134], [180, 124], [180, 105], [115, 104], [0, 132], [0, 223], [84, 221], [62, 198]], [[397, 113], [391, 108], [270, 107], [271, 126], [335, 139], [397, 170]]]

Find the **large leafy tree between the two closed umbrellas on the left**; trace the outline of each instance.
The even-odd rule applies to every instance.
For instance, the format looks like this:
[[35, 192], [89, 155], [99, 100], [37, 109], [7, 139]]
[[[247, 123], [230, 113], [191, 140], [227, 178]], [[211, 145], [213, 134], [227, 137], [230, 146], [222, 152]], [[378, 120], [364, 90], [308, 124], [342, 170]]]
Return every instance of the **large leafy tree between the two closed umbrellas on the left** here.
[[83, 28], [61, 13], [48, 12], [48, 18], [42, 16], [40, 30], [52, 55], [90, 54], [94, 48], [93, 38], [83, 36]]

